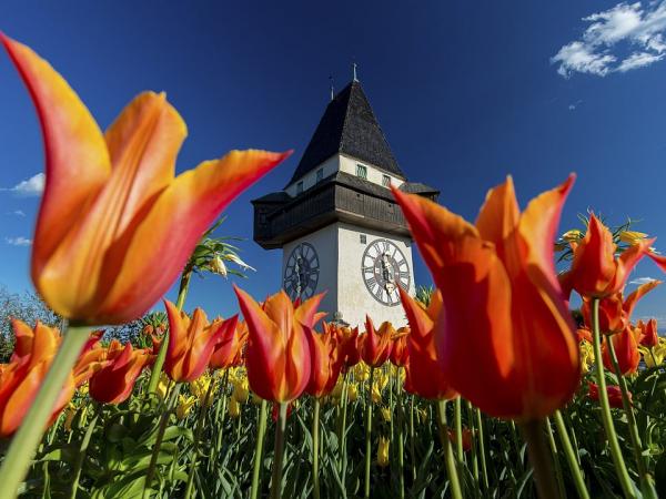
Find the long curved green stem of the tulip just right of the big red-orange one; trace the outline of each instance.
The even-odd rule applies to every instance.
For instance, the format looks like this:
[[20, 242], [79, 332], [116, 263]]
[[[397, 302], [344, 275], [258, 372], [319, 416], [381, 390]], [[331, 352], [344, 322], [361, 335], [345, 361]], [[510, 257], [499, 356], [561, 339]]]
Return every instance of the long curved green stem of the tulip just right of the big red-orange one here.
[[594, 363], [597, 378], [597, 386], [599, 393], [599, 406], [602, 408], [602, 422], [608, 438], [608, 446], [610, 448], [610, 456], [613, 457], [613, 464], [615, 465], [615, 471], [619, 485], [624, 492], [625, 498], [635, 498], [634, 487], [632, 479], [627, 472], [624, 458], [622, 456], [622, 449], [617, 441], [617, 435], [615, 432], [615, 425], [613, 424], [613, 416], [610, 414], [610, 404], [608, 403], [608, 393], [606, 391], [606, 377], [604, 374], [604, 360], [602, 357], [602, 335], [599, 333], [599, 298], [592, 301], [592, 333], [593, 333], [593, 347], [594, 347]]

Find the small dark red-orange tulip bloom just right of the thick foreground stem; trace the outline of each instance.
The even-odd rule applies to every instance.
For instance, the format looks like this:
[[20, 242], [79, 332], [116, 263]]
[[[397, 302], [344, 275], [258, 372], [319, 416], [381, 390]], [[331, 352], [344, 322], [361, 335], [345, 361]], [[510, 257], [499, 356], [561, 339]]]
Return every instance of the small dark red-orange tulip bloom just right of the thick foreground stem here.
[[105, 352], [105, 365], [90, 378], [90, 396], [105, 404], [121, 404], [132, 394], [141, 370], [153, 359], [149, 350], [124, 347], [113, 339]]

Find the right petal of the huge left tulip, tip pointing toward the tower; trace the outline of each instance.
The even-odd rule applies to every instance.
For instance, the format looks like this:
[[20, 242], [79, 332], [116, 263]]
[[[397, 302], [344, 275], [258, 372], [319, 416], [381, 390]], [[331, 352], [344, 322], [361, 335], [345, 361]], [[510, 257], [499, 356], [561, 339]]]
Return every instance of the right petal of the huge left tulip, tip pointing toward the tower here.
[[[131, 240], [109, 252], [107, 268], [119, 274], [103, 276], [112, 287], [98, 322], [130, 320], [150, 308], [175, 281], [220, 212], [289, 154], [234, 151], [179, 175], [129, 234]], [[155, 255], [169, 264], [159, 264]]]

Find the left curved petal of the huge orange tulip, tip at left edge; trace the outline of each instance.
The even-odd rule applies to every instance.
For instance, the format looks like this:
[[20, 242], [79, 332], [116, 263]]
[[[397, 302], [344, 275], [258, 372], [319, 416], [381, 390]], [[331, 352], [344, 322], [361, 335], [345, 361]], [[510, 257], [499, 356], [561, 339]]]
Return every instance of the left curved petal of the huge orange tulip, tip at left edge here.
[[28, 86], [44, 141], [47, 181], [32, 249], [36, 279], [111, 166], [102, 132], [64, 79], [30, 48], [1, 33], [0, 40]]

